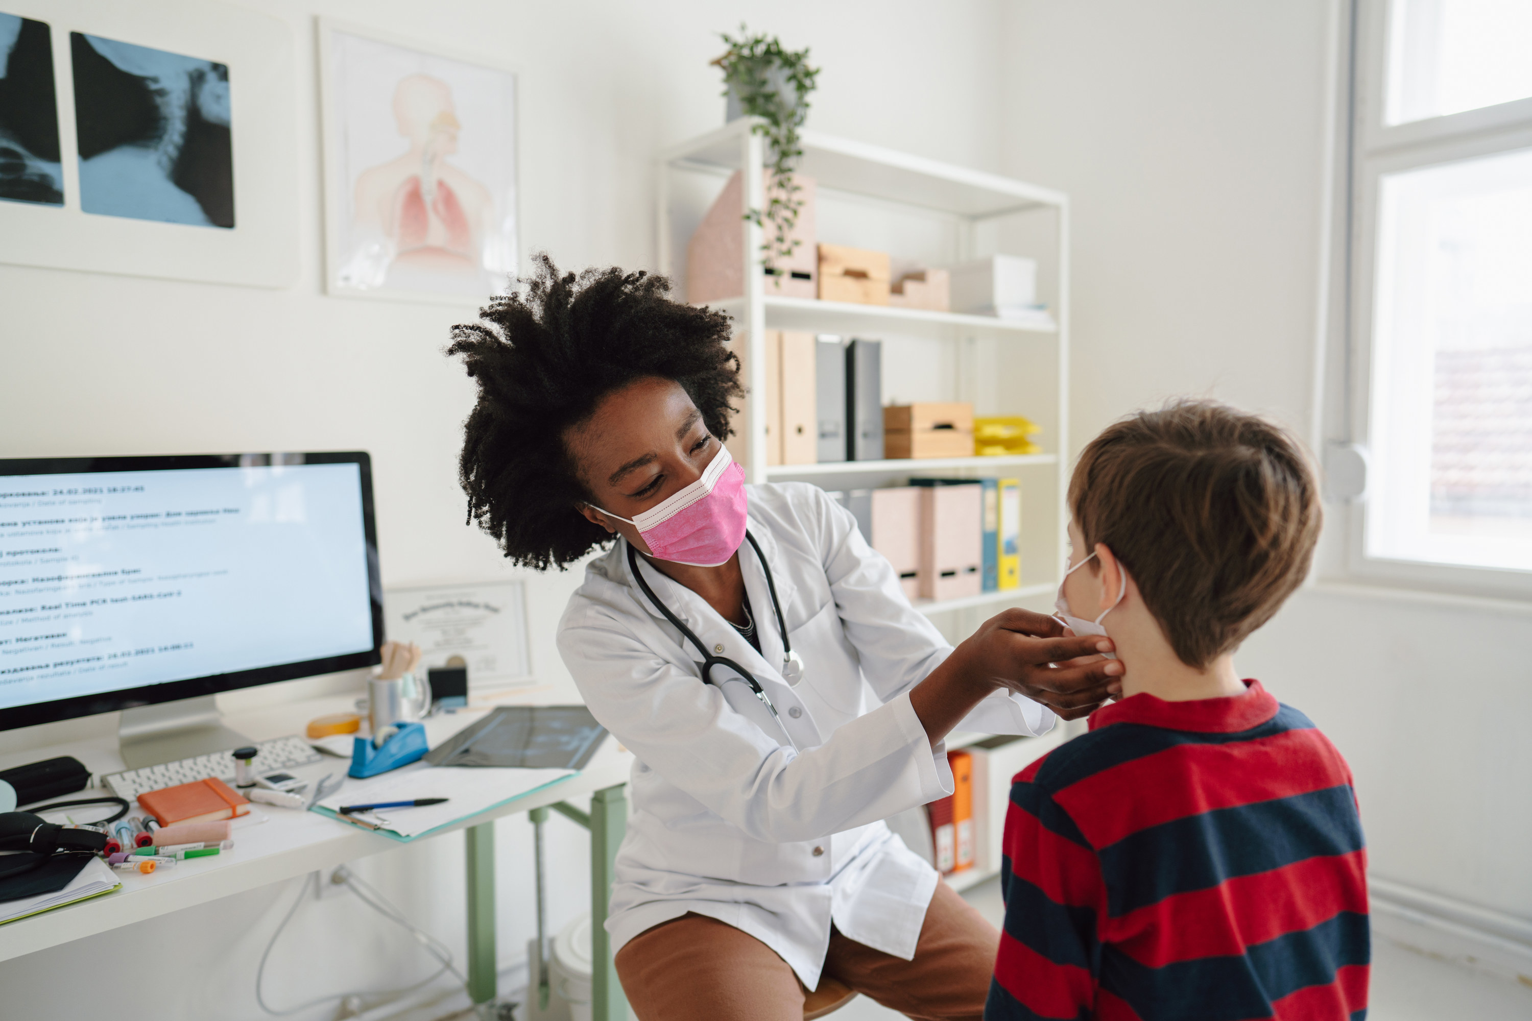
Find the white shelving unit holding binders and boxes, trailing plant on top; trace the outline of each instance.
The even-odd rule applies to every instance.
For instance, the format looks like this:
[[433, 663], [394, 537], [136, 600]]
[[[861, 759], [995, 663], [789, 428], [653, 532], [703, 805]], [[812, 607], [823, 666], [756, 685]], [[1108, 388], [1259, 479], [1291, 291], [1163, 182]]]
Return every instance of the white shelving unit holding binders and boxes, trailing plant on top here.
[[[763, 201], [763, 165], [766, 161], [764, 139], [751, 129], [752, 118], [731, 121], [725, 127], [674, 145], [659, 158], [657, 213], [659, 213], [659, 266], [660, 272], [677, 279], [673, 259], [674, 217], [673, 178], [677, 171], [712, 175], [719, 184], [734, 171], [743, 171], [743, 205], [760, 208]], [[1030, 344], [1039, 361], [1049, 364], [1052, 380], [1048, 415], [1039, 415], [1036, 407], [980, 407], [982, 413], [1025, 413], [1043, 426], [1043, 444], [1048, 453], [1016, 458], [939, 458], [915, 461], [861, 461], [838, 464], [766, 465], [763, 458], [751, 458], [745, 465], [751, 482], [772, 479], [804, 479], [817, 482], [833, 481], [827, 488], [858, 485], [885, 485], [898, 475], [927, 475], [948, 471], [954, 475], [994, 475], [997, 470], [1016, 473], [1023, 481], [1023, 534], [1030, 517], [1043, 517], [1048, 536], [1033, 533], [1031, 542], [1023, 542], [1023, 586], [999, 592], [984, 592], [968, 599], [925, 603], [927, 614], [991, 606], [1016, 602], [1030, 595], [1051, 592], [1059, 583], [1059, 566], [1063, 562], [1065, 522], [1063, 496], [1068, 465], [1060, 456], [1068, 450], [1069, 419], [1069, 199], [1062, 191], [1043, 188], [1025, 181], [956, 167], [922, 156], [913, 156], [878, 145], [867, 145], [818, 132], [803, 132], [801, 173], [815, 179], [820, 202], [852, 201], [864, 208], [887, 210], [890, 214], [915, 213], [919, 216], [945, 217], [951, 220], [958, 237], [958, 259], [974, 256], [974, 237], [985, 225], [1003, 217], [1051, 211], [1056, 219], [1051, 251], [1017, 251], [1031, 256], [1051, 272], [1043, 276], [1052, 282], [1049, 300], [1051, 321], [1008, 321], [987, 315], [962, 315], [956, 312], [931, 312], [875, 305], [850, 305], [844, 302], [817, 302], [810, 298], [780, 297], [768, 292], [761, 265], [761, 228], [745, 223], [745, 294], [737, 298], [712, 302], [711, 306], [734, 317], [738, 329], [749, 337], [746, 387], [751, 393], [764, 392], [764, 358], [760, 357], [761, 335], [766, 329], [801, 329], [826, 334], [887, 337], [915, 337], [958, 344], [954, 361], [958, 392], [942, 398], [922, 400], [971, 400], [979, 393], [984, 369], [980, 360], [971, 357], [974, 344]], [[856, 243], [852, 237], [833, 237], [844, 243]], [[683, 243], [683, 242], [682, 242]], [[970, 352], [970, 357], [964, 354]], [[991, 381], [993, 383], [993, 381]], [[1036, 383], [1036, 381], [1033, 381]], [[1036, 393], [1036, 389], [1034, 389]], [[764, 450], [766, 409], [761, 401], [749, 401], [745, 430], [749, 435], [749, 450]], [[1039, 485], [1046, 473], [1051, 485]], [[1030, 514], [1025, 504], [1039, 507], [1046, 501], [1046, 514]], [[1040, 540], [1039, 540], [1040, 539]], [[1028, 556], [1028, 553], [1031, 556]], [[1037, 560], [1045, 559], [1045, 566]], [[1031, 569], [1028, 569], [1031, 566]]]

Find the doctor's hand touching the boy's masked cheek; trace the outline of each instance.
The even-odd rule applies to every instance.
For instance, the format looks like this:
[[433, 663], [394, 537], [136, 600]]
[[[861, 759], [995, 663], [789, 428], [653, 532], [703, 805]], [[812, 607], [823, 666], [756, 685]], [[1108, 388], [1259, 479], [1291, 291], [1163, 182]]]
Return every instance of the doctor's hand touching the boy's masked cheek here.
[[1052, 709], [1063, 719], [1088, 716], [1121, 695], [1123, 664], [1108, 660], [1112, 640], [1075, 637], [1052, 617], [1007, 609], [987, 620], [964, 646], [973, 669]]

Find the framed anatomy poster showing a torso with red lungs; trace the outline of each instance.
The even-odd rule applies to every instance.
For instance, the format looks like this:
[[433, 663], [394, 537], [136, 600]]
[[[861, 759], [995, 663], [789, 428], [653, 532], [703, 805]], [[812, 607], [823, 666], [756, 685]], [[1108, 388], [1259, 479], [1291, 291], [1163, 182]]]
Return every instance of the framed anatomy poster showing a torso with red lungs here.
[[[3, 3], [3, 0], [0, 0]], [[516, 271], [516, 77], [320, 18], [329, 294], [483, 303]]]

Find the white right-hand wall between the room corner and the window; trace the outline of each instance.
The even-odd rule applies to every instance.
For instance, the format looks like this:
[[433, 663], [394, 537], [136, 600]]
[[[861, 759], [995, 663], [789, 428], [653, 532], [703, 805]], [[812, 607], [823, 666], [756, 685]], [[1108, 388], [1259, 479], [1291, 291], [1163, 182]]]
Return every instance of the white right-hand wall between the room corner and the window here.
[[[1307, 436], [1330, 3], [1019, 0], [1003, 18], [1003, 168], [1074, 204], [1072, 445], [1183, 393]], [[1321, 585], [1238, 660], [1350, 761], [1374, 874], [1523, 918], [1529, 625]]]

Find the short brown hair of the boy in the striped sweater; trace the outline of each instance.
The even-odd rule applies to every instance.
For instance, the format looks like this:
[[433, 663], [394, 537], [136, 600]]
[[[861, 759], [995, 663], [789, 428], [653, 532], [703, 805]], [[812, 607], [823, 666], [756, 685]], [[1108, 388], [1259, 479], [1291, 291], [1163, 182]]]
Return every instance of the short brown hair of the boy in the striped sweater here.
[[1299, 442], [1215, 401], [1175, 401], [1108, 426], [1080, 455], [1069, 510], [1085, 551], [1106, 543], [1175, 655], [1198, 669], [1236, 649], [1302, 583], [1322, 517]]

